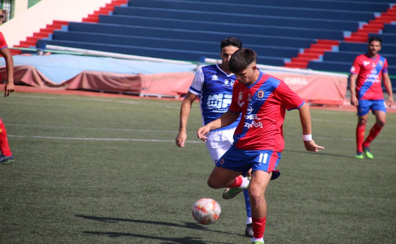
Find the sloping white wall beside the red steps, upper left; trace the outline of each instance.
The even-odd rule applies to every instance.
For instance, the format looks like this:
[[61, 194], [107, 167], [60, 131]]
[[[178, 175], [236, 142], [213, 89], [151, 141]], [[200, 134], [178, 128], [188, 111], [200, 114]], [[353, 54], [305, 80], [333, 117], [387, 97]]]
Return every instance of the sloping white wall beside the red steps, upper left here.
[[80, 22], [110, 2], [111, 0], [42, 0], [0, 25], [0, 31], [8, 46], [12, 47], [18, 45], [19, 41], [26, 40], [26, 37], [31, 37], [34, 32], [39, 32], [40, 28], [46, 28], [53, 20]]

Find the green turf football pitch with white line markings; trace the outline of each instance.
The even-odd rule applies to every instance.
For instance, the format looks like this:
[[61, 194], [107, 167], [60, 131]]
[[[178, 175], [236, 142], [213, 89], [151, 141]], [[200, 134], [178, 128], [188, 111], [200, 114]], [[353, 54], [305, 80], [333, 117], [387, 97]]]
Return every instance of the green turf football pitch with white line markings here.
[[[0, 165], [0, 243], [250, 243], [242, 194], [223, 200], [206, 184], [198, 102], [184, 148], [174, 142], [180, 101], [14, 93], [1, 103], [15, 161]], [[396, 115], [371, 145], [375, 159], [358, 160], [354, 112], [311, 114], [326, 150], [306, 152], [298, 111], [286, 113], [266, 242], [395, 243]], [[213, 225], [191, 216], [203, 197], [222, 207]]]

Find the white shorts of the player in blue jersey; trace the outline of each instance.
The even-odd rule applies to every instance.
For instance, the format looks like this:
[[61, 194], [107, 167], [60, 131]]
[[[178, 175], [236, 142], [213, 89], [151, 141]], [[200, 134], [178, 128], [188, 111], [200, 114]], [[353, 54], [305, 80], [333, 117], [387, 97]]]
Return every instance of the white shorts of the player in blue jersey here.
[[223, 131], [210, 131], [206, 135], [208, 136], [208, 139], [206, 139], [206, 147], [214, 163], [227, 152], [232, 142], [234, 142], [233, 136], [235, 129], [236, 127]]

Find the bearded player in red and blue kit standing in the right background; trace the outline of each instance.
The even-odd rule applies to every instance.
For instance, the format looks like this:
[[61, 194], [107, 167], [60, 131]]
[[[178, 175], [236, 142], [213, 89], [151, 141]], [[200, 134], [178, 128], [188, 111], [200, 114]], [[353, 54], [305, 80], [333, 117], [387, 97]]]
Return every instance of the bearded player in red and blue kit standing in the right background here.
[[[387, 70], [388, 62], [386, 58], [378, 54], [381, 50], [381, 42], [381, 38], [371, 37], [368, 42], [367, 54], [357, 56], [350, 69], [350, 103], [358, 108], [358, 126], [356, 127], [356, 158], [358, 159], [364, 158], [363, 153], [369, 159], [374, 158], [369, 146], [386, 122], [386, 104], [381, 87], [381, 77], [389, 94], [389, 108], [393, 103], [392, 84]], [[375, 115], [376, 122], [363, 142], [370, 109]]]

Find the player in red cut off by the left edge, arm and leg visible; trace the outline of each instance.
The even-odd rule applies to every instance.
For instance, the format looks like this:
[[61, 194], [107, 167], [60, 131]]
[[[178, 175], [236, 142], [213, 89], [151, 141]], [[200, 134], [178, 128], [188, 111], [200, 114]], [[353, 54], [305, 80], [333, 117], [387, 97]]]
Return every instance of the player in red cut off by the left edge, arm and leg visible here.
[[[14, 91], [14, 61], [10, 49], [8, 48], [6, 40], [4, 40], [3, 33], [0, 32], [0, 54], [6, 60], [7, 69], [7, 83], [4, 87], [4, 97], [10, 96], [10, 93]], [[1, 80], [1, 77], [0, 77]], [[14, 156], [11, 153], [10, 147], [8, 146], [7, 132], [4, 123], [0, 118], [0, 164], [10, 163], [14, 161]]]

